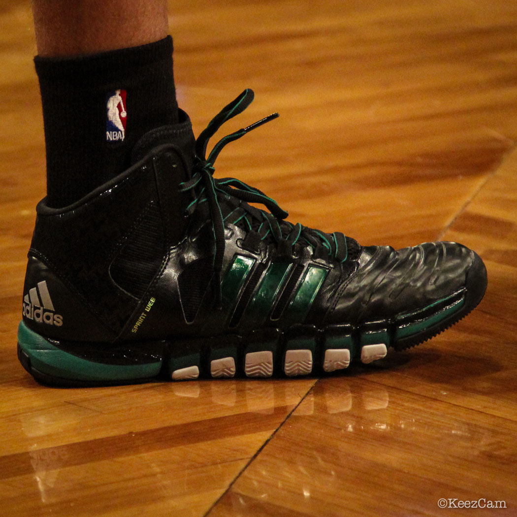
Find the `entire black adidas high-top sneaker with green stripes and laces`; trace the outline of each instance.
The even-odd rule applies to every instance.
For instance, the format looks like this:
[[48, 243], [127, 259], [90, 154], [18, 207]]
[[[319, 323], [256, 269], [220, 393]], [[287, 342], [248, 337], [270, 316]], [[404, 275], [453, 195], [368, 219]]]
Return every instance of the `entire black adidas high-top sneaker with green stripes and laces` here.
[[197, 141], [182, 113], [79, 202], [38, 204], [18, 354], [39, 381], [320, 375], [421, 343], [478, 305], [486, 270], [464, 246], [361, 247], [214, 178], [226, 143], [278, 116], [205, 159], [210, 137], [252, 100], [246, 90]]

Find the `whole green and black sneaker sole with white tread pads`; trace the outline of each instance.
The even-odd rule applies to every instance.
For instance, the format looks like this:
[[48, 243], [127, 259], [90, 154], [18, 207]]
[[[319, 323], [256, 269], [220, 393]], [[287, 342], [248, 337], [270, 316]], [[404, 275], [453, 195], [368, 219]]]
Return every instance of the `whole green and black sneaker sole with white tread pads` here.
[[[160, 341], [130, 345], [147, 353], [133, 356], [119, 347], [99, 357], [95, 344], [82, 347], [75, 343], [66, 350], [64, 344], [48, 340], [20, 323], [18, 357], [23, 367], [39, 382], [54, 386], [109, 386], [146, 382], [186, 381], [197, 378], [268, 378], [300, 375], [325, 375], [346, 370], [352, 363], [368, 364], [383, 358], [389, 347], [397, 350], [416, 346], [460, 321], [479, 303], [484, 293], [467, 290], [448, 297], [431, 314], [420, 311], [420, 319], [407, 322], [370, 322], [360, 327], [332, 325], [324, 329], [297, 325], [285, 332], [279, 329], [255, 331], [242, 337]], [[420, 328], [425, 321], [439, 321], [414, 334], [397, 339], [397, 331], [410, 326]], [[400, 321], [403, 323], [400, 324]], [[399, 323], [397, 325], [397, 323]], [[406, 330], [407, 331], [407, 330]], [[404, 333], [404, 332], [403, 332]], [[66, 346], [67, 344], [65, 344]], [[68, 344], [69, 345], [69, 344]], [[74, 353], [70, 350], [73, 349]], [[78, 351], [81, 351], [79, 353]]]

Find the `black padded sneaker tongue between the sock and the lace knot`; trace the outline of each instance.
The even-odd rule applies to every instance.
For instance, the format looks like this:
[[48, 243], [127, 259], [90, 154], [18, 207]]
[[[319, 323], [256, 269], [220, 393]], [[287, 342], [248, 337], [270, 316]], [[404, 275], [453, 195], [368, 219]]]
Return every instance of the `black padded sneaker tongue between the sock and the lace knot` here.
[[178, 124], [151, 129], [136, 142], [131, 153], [131, 164], [138, 162], [155, 147], [163, 144], [174, 144], [181, 150], [190, 174], [195, 157], [195, 138], [190, 118], [183, 110], [179, 110]]

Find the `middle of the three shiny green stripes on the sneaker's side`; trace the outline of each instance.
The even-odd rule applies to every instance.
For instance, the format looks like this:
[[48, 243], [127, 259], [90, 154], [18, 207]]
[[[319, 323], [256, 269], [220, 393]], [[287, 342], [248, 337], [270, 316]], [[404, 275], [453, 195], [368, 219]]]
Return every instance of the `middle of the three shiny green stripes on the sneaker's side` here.
[[291, 266], [290, 262], [274, 262], [269, 266], [260, 287], [246, 308], [242, 325], [253, 329], [264, 323], [275, 304], [276, 297]]

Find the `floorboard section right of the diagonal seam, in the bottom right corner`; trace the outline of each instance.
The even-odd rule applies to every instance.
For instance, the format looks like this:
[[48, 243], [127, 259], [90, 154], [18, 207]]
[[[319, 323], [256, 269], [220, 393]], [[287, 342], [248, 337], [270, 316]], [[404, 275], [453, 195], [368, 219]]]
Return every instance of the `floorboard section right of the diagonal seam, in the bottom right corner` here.
[[509, 483], [515, 421], [361, 376], [322, 379], [299, 412], [210, 517], [269, 515], [271, 507], [286, 515], [438, 516], [442, 497], [517, 504]]

